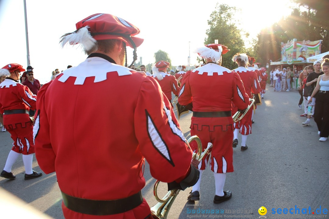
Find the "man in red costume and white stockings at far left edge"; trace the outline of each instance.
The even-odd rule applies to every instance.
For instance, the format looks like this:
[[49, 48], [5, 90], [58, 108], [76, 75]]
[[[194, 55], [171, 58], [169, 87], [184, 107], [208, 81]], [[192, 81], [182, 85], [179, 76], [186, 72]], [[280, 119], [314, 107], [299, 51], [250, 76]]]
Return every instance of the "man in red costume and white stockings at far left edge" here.
[[20, 73], [25, 71], [22, 65], [11, 63], [0, 71], [7, 72], [7, 78], [0, 84], [0, 113], [3, 115], [3, 125], [14, 141], [0, 176], [14, 180], [16, 176], [12, 173], [12, 166], [18, 156], [22, 154], [25, 167], [24, 179], [40, 177], [42, 173], [32, 169], [33, 122], [29, 117], [29, 109], [36, 108], [37, 96], [27, 86], [18, 82]]

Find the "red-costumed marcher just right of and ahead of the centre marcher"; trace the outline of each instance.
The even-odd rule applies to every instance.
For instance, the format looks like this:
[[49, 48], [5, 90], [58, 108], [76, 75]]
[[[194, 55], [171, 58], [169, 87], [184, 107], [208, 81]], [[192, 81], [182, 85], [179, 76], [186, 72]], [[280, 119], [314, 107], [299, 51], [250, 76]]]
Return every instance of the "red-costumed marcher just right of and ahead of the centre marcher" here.
[[[236, 73], [239, 74], [242, 82], [243, 87], [248, 94], [249, 98], [252, 98], [251, 93], [258, 94], [261, 90], [259, 85], [257, 74], [254, 71], [251, 71], [246, 68], [248, 64], [249, 58], [246, 54], [237, 53], [233, 56], [232, 61], [238, 64], [238, 68], [234, 69]], [[249, 100], [248, 98], [248, 100]], [[238, 107], [234, 107], [232, 110], [232, 114], [235, 114], [238, 111]], [[246, 145], [247, 137], [251, 134], [251, 116], [252, 110], [249, 110], [246, 115], [240, 120], [239, 122], [235, 123], [235, 130], [234, 130], [234, 137], [233, 137], [233, 147], [236, 147], [238, 144], [238, 132], [242, 135], [241, 139], [241, 151], [245, 151], [248, 149]]]

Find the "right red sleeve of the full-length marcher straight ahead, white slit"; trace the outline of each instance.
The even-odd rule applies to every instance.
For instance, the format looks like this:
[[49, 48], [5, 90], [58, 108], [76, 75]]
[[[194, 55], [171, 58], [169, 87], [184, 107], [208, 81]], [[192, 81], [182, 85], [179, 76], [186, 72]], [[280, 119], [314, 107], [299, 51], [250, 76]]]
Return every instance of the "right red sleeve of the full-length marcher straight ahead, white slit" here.
[[249, 105], [249, 97], [244, 90], [243, 83], [239, 74], [236, 72], [232, 73], [234, 74], [232, 102], [235, 106], [238, 107], [238, 109], [243, 110]]

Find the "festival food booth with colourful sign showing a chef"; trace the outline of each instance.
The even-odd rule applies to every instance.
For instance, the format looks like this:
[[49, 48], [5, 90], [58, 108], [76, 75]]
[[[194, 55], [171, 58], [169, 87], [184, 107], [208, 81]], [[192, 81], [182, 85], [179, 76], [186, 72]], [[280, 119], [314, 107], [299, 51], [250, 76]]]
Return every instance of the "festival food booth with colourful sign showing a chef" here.
[[295, 74], [294, 80], [291, 81], [291, 87], [296, 89], [298, 84], [298, 72], [303, 71], [305, 66], [313, 65], [314, 61], [311, 60], [316, 58], [316, 56], [322, 57], [323, 55], [326, 54], [321, 54], [321, 40], [297, 41], [297, 39], [292, 39], [287, 43], [281, 42], [281, 61], [271, 62], [270, 65], [271, 68], [280, 66], [281, 70], [290, 67]]

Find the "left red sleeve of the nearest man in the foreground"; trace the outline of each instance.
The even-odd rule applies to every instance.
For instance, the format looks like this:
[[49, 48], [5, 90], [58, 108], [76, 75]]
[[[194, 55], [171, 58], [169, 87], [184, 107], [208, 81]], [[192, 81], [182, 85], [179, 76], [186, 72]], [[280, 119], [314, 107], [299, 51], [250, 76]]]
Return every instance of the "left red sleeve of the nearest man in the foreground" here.
[[[45, 111], [45, 94], [52, 80], [44, 84], [38, 92], [37, 112], [33, 127], [36, 158], [41, 170], [46, 173], [55, 172], [56, 155], [50, 143], [49, 120]], [[40, 128], [41, 127], [41, 128]]]

